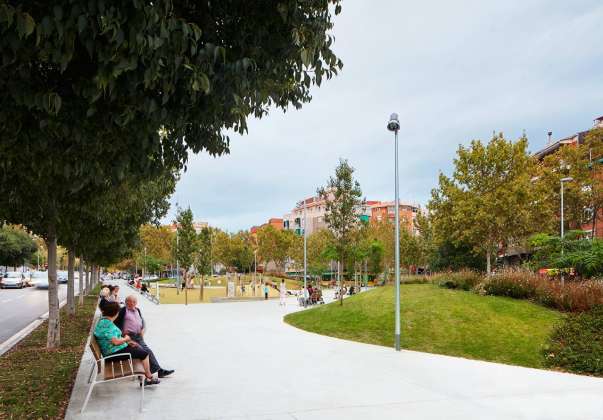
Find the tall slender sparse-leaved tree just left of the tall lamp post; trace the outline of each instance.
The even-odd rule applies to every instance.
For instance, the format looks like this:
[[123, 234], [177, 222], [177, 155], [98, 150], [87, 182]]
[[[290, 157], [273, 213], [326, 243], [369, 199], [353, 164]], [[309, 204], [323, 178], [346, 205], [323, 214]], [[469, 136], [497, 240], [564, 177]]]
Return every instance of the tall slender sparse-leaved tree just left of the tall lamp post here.
[[[335, 177], [330, 177], [327, 185], [317, 191], [325, 201], [325, 222], [333, 233], [335, 251], [342, 267], [351, 258], [354, 232], [359, 224], [358, 209], [364, 203], [360, 184], [353, 175], [354, 168], [347, 160], [340, 159]], [[342, 293], [339, 295], [339, 303], [343, 305]]]

